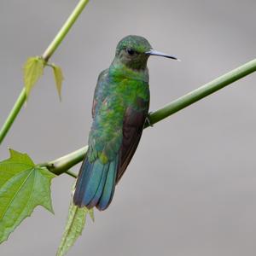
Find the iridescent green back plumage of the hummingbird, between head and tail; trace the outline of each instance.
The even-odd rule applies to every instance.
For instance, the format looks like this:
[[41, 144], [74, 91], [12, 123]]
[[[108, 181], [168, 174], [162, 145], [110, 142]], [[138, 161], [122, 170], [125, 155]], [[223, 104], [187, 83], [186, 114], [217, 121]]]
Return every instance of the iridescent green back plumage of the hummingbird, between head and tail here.
[[[148, 82], [140, 77], [128, 78], [119, 72], [118, 67], [110, 67], [102, 73], [99, 81], [102, 88], [96, 90], [95, 118], [90, 131], [90, 161], [99, 157], [103, 163], [113, 160], [122, 143], [123, 121], [128, 107], [137, 111], [148, 112], [149, 90]], [[105, 73], [107, 75], [105, 76]], [[105, 78], [104, 78], [105, 76]], [[111, 93], [109, 93], [111, 92]], [[145, 102], [142, 106], [138, 101]]]

